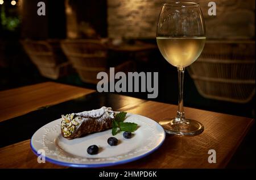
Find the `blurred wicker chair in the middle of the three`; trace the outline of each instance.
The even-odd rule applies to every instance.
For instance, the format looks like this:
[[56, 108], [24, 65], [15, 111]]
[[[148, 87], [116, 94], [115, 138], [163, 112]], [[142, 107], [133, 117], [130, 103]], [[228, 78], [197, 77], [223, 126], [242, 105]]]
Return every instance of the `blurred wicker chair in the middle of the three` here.
[[109, 67], [115, 67], [115, 72], [127, 72], [135, 68], [132, 61], [117, 64], [108, 59], [108, 49], [100, 40], [64, 40], [61, 47], [68, 60], [79, 73], [82, 81], [86, 83], [98, 83], [99, 72], [109, 74]]

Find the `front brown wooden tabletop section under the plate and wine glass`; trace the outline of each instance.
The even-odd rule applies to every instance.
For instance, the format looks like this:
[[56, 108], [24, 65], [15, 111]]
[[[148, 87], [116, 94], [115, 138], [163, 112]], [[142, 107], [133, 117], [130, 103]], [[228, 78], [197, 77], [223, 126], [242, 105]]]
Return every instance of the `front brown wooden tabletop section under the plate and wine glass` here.
[[[76, 87], [73, 87], [76, 89]], [[80, 88], [79, 88], [80, 89]], [[121, 99], [123, 96], [121, 96]], [[171, 118], [177, 106], [153, 101], [137, 101], [123, 98], [133, 106], [120, 106], [117, 111], [141, 114], [156, 122]], [[128, 99], [128, 100], [127, 100]], [[129, 100], [130, 99], [130, 100]], [[57, 101], [57, 100], [56, 100]], [[216, 112], [185, 108], [187, 118], [204, 124], [205, 130], [198, 136], [177, 137], [167, 135], [163, 145], [154, 153], [128, 164], [112, 168], [225, 168], [254, 123], [253, 119]], [[208, 150], [217, 153], [217, 163], [208, 163]], [[0, 168], [65, 168], [51, 163], [38, 164], [30, 149], [30, 140], [0, 149]]]

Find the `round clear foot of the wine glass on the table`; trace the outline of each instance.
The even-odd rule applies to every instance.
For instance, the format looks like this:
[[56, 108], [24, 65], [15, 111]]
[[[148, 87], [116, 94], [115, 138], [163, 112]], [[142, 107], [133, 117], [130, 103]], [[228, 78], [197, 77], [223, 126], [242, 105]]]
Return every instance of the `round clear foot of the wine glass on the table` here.
[[177, 121], [173, 119], [163, 119], [159, 122], [166, 133], [177, 136], [195, 136], [204, 131], [204, 125], [192, 119]]

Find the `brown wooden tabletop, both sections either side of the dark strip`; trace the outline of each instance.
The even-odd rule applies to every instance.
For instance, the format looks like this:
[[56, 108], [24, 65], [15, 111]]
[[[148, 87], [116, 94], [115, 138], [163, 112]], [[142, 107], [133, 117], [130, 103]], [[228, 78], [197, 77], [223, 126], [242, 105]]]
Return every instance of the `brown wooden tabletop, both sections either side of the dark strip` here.
[[[0, 121], [8, 122], [9, 118], [28, 113], [41, 106], [61, 103], [86, 94], [93, 98], [92, 93], [93, 90], [53, 82], [2, 91], [0, 92]], [[97, 97], [100, 93], [93, 94]], [[110, 102], [108, 97], [102, 98], [105, 96], [108, 94], [101, 95], [99, 99], [104, 99], [108, 105], [113, 103], [115, 110], [141, 114], [157, 122], [174, 116], [177, 110], [177, 107], [172, 104], [145, 101], [122, 95], [115, 95], [115, 100]], [[99, 102], [98, 106], [102, 106], [102, 102]], [[115, 102], [118, 103], [114, 104]], [[113, 166], [113, 168], [225, 168], [254, 123], [253, 119], [195, 108], [185, 108], [185, 112], [187, 117], [204, 124], [205, 130], [201, 135], [193, 137], [167, 135], [163, 145], [156, 152], [141, 160]], [[209, 149], [216, 150], [216, 164], [208, 163]], [[0, 168], [65, 167], [49, 162], [38, 164], [37, 157], [30, 149], [28, 139], [0, 149]]]

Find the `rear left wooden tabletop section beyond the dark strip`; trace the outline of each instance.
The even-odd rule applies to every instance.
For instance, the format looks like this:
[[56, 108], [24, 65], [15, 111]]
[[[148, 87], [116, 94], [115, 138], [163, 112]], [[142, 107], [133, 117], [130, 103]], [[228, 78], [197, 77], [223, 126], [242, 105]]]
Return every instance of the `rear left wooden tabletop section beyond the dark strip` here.
[[55, 82], [0, 91], [0, 122], [92, 92], [94, 90]]

